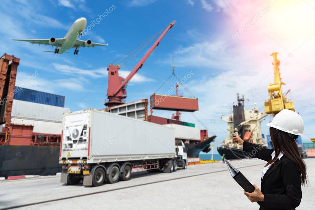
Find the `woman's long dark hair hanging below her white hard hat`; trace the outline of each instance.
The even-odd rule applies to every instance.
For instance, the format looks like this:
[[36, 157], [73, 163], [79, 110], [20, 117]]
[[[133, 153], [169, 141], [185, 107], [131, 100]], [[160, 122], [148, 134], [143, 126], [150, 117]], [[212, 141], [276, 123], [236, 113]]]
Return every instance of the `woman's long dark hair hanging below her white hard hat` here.
[[279, 153], [282, 152], [284, 156], [289, 158], [295, 164], [296, 168], [301, 172], [301, 183], [302, 185], [305, 185], [307, 183], [306, 165], [300, 156], [295, 140], [290, 137], [288, 133], [272, 127], [269, 128], [269, 132], [273, 147], [275, 149], [275, 158], [271, 158], [266, 166], [269, 164], [273, 165]]

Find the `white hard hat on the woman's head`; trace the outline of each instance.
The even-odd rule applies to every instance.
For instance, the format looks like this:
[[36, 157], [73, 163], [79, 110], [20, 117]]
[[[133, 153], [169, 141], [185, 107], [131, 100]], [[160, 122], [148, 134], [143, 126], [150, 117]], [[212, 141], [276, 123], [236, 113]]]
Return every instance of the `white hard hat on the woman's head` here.
[[272, 122], [267, 123], [267, 126], [282, 130], [289, 134], [303, 135], [304, 122], [302, 117], [289, 109], [281, 110], [274, 118]]

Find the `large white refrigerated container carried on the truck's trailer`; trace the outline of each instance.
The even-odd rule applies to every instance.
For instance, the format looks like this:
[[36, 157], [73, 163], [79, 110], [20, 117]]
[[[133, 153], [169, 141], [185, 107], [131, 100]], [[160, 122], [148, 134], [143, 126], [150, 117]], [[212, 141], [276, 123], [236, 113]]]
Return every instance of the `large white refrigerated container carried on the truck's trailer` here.
[[105, 111], [65, 114], [62, 158], [88, 163], [174, 158], [174, 129]]

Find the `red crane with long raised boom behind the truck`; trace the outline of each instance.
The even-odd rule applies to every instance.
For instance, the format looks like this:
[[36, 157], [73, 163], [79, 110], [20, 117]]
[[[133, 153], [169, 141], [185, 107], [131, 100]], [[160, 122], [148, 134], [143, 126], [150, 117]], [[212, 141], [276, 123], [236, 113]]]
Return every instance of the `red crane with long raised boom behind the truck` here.
[[152, 47], [146, 52], [146, 54], [141, 58], [139, 63], [135, 66], [134, 69], [130, 72], [130, 74], [125, 78], [119, 76], [118, 70], [119, 70], [119, 64], [113, 65], [109, 64], [109, 68], [107, 68], [108, 71], [108, 88], [107, 88], [107, 98], [108, 101], [105, 101], [105, 105], [108, 107], [116, 106], [119, 104], [123, 104], [123, 99], [127, 97], [127, 91], [126, 86], [127, 83], [131, 80], [131, 78], [137, 73], [137, 71], [142, 67], [146, 59], [150, 56], [150, 54], [153, 52], [155, 47], [158, 46], [162, 38], [165, 36], [167, 31], [172, 28], [172, 26], [175, 24], [175, 21], [170, 23], [167, 28], [163, 31], [161, 36], [157, 39], [157, 41], [154, 42]]

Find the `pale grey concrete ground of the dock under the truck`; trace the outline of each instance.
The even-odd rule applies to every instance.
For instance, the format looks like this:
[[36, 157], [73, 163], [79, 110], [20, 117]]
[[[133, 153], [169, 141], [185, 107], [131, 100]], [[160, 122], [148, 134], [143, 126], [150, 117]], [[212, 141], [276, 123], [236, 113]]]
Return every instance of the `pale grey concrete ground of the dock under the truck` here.
[[[239, 170], [249, 181], [260, 186], [264, 161], [243, 159], [230, 162], [245, 167]], [[297, 209], [315, 209], [315, 158], [305, 159], [305, 162], [309, 183], [302, 187], [303, 197]], [[135, 186], [146, 183], [152, 184]], [[129, 181], [100, 187], [84, 187], [82, 183], [63, 185], [60, 176], [48, 176], [0, 181], [0, 189], [0, 208], [7, 209], [31, 203], [18, 209], [259, 209], [257, 203], [247, 199], [227, 171], [226, 164], [221, 162], [193, 165], [174, 173], [138, 172], [132, 174]], [[89, 193], [94, 194], [82, 196]], [[74, 197], [58, 200], [69, 196]], [[54, 199], [57, 200], [51, 201]]]

